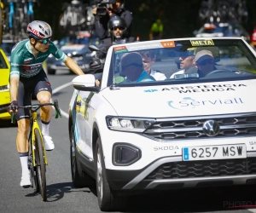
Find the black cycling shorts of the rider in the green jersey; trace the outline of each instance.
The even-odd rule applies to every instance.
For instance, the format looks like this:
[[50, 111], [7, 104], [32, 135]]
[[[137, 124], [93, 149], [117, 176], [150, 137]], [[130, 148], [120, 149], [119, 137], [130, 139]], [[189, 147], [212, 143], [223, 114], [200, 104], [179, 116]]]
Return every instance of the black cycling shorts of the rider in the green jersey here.
[[[49, 80], [42, 70], [36, 76], [32, 78], [22, 78], [20, 77], [19, 89], [18, 89], [18, 106], [26, 106], [32, 104], [32, 95], [37, 96], [38, 92], [49, 91], [52, 94], [51, 85]], [[20, 108], [15, 114], [16, 120], [29, 119], [30, 113], [28, 109]]]

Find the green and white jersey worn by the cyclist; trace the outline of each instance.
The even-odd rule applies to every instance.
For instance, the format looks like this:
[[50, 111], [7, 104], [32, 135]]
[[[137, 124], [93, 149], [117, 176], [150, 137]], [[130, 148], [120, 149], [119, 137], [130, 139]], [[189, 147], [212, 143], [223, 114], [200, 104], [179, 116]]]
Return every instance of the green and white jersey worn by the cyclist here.
[[32, 54], [29, 39], [16, 43], [11, 52], [10, 78], [31, 78], [37, 75], [38, 72], [44, 72], [42, 65], [50, 54], [54, 55], [56, 59], [62, 62], [67, 59], [67, 55], [65, 55], [61, 49], [58, 49], [51, 41], [49, 41], [47, 51], [44, 53], [38, 52], [37, 57]]

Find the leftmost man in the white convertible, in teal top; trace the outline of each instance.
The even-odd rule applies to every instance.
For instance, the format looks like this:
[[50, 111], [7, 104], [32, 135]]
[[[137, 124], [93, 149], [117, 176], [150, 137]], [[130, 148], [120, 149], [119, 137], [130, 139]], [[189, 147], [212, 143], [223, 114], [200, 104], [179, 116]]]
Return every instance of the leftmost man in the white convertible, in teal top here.
[[125, 53], [121, 57], [121, 72], [125, 75], [125, 83], [149, 82], [155, 79], [143, 69], [143, 58], [138, 53]]

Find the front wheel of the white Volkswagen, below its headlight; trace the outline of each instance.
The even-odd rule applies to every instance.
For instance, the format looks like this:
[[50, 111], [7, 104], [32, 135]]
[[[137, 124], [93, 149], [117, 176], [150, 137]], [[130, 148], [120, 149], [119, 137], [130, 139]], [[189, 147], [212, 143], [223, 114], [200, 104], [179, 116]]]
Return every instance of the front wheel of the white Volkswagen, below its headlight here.
[[125, 210], [128, 199], [124, 196], [118, 196], [108, 185], [100, 137], [96, 141], [95, 165], [96, 193], [100, 209], [102, 211]]

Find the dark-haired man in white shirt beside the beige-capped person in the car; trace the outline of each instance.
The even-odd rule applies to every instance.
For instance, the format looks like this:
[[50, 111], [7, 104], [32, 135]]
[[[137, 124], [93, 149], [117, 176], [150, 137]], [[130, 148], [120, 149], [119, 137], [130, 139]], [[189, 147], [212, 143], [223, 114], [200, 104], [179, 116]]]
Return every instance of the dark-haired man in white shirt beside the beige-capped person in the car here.
[[170, 78], [174, 78], [177, 74], [184, 74], [191, 70], [192, 68], [195, 68], [195, 54], [194, 51], [186, 51], [182, 54], [180, 54], [179, 58], [179, 65], [182, 70], [175, 72], [172, 74]]

